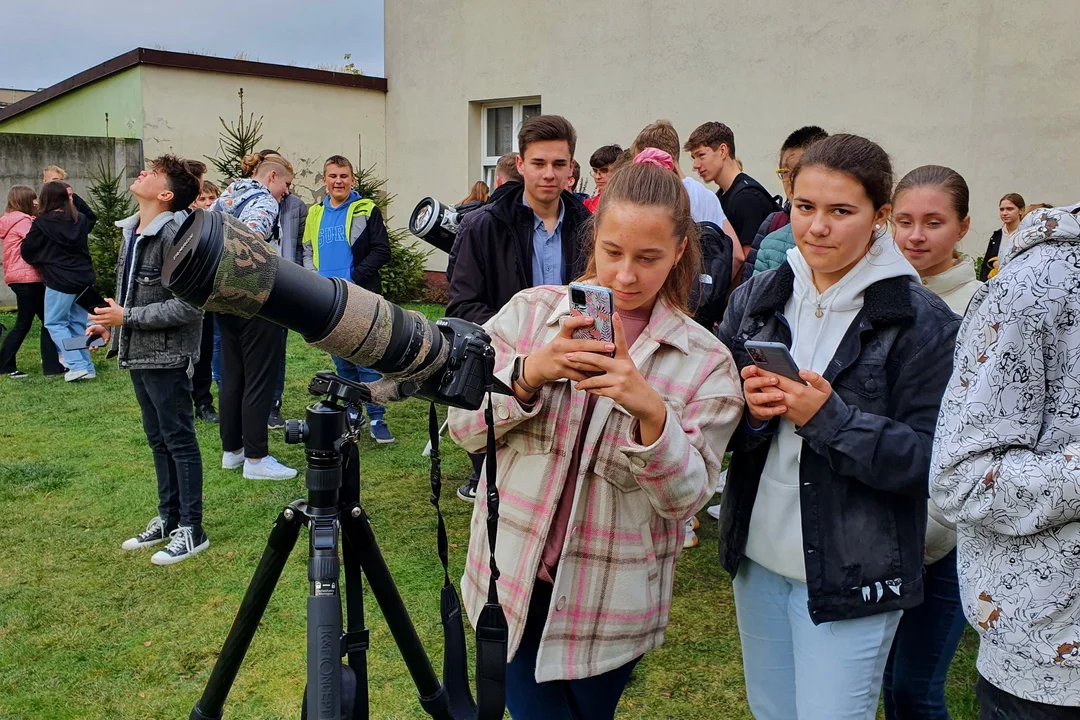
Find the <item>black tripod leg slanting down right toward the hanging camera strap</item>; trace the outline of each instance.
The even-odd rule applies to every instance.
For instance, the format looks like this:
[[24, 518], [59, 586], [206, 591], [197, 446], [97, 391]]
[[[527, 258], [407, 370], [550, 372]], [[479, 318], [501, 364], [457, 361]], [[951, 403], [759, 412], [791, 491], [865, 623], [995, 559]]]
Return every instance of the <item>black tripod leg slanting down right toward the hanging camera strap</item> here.
[[[359, 508], [357, 508], [359, 510]], [[402, 660], [413, 676], [419, 694], [420, 705], [424, 711], [438, 720], [453, 720], [450, 712], [449, 696], [443, 683], [438, 681], [435, 671], [431, 667], [431, 660], [428, 651], [424, 650], [420, 638], [416, 634], [413, 621], [409, 619], [408, 610], [402, 601], [402, 596], [397, 592], [394, 579], [390, 575], [390, 568], [379, 552], [379, 544], [375, 541], [375, 532], [367, 519], [367, 514], [361, 510], [359, 517], [353, 517], [351, 513], [343, 513], [341, 516], [341, 530], [346, 541], [357, 551], [360, 563], [367, 575], [367, 584], [375, 595], [379, 608], [382, 609], [382, 616], [387, 621], [391, 635], [397, 643], [402, 653]]]

